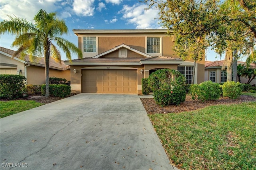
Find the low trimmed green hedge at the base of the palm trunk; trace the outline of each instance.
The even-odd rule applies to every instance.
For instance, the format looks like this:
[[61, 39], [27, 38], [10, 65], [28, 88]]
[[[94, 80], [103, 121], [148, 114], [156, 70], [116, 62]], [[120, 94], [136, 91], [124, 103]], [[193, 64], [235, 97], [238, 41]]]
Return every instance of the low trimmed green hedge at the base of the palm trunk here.
[[[45, 95], [45, 84], [41, 87], [42, 95]], [[50, 84], [49, 85], [50, 96], [54, 97], [67, 97], [71, 93], [71, 87], [65, 84]]]

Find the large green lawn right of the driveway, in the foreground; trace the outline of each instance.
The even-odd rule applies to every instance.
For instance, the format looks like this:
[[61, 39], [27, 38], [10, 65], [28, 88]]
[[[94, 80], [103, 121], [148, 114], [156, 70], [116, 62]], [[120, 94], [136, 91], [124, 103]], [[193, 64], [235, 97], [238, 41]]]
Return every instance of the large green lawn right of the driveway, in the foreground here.
[[148, 116], [178, 168], [256, 169], [256, 102]]

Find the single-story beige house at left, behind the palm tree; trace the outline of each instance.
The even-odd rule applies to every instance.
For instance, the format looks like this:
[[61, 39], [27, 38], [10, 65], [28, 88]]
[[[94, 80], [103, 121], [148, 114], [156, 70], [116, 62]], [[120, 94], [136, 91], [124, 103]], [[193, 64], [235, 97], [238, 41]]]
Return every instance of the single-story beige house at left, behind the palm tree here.
[[[19, 74], [27, 78], [27, 84], [45, 84], [44, 58], [36, 57], [33, 61], [29, 55], [12, 58], [15, 52], [0, 47], [0, 74]], [[49, 77], [70, 80], [70, 66], [51, 58]]]

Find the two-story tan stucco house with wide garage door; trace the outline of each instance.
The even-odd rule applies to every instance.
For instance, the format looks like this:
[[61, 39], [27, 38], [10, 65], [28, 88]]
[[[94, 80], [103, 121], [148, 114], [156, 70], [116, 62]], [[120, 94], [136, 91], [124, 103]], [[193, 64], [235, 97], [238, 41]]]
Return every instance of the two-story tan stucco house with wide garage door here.
[[[179, 70], [192, 81], [193, 61], [174, 55], [166, 29], [74, 29], [83, 59], [70, 65], [71, 87], [78, 93], [142, 92], [141, 79], [161, 68]], [[73, 72], [75, 70], [75, 72]], [[196, 62], [195, 83], [204, 81], [204, 59]]]

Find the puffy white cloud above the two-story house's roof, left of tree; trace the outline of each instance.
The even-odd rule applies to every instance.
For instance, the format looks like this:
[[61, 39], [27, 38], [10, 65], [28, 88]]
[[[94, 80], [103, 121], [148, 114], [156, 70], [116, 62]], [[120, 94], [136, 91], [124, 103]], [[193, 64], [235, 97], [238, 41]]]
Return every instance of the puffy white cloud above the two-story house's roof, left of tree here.
[[145, 10], [146, 4], [139, 5], [134, 4], [133, 6], [124, 5], [123, 9], [119, 11], [119, 14], [123, 14], [122, 18], [127, 23], [136, 25], [136, 29], [159, 29], [158, 25], [158, 10], [149, 9]]

